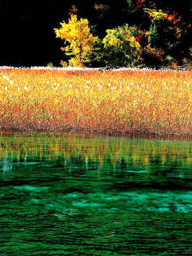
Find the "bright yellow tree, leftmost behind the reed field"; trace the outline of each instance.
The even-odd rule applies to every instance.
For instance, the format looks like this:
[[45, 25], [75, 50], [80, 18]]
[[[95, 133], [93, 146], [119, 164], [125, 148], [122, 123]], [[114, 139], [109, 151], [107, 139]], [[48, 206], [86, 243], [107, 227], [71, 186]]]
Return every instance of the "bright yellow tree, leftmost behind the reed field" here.
[[[94, 51], [93, 44], [98, 38], [91, 34], [88, 24], [87, 19], [77, 20], [76, 15], [71, 15], [68, 24], [63, 21], [59, 29], [54, 29], [56, 37], [67, 44], [61, 47], [61, 50], [65, 51], [66, 55], [74, 55], [69, 60], [69, 66], [83, 67], [85, 63], [90, 62], [90, 56]], [[61, 64], [67, 65], [63, 60]]]

